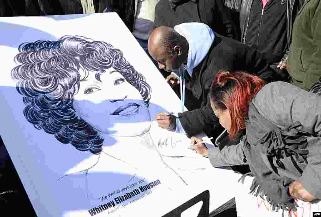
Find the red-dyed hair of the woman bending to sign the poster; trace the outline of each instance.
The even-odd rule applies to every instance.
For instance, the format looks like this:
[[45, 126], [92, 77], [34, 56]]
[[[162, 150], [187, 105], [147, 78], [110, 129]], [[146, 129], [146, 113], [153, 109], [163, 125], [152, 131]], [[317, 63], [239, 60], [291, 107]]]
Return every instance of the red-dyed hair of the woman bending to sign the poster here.
[[219, 71], [211, 86], [211, 101], [215, 109], [228, 109], [231, 115], [230, 138], [235, 139], [245, 129], [250, 100], [265, 82], [258, 76], [242, 71]]

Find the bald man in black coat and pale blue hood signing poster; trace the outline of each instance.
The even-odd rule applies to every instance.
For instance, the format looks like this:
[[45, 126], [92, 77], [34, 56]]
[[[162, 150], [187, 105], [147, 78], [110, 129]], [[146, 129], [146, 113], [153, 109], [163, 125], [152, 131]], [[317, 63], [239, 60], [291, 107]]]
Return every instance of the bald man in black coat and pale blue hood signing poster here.
[[[148, 51], [160, 69], [174, 71], [170, 84], [180, 84], [182, 112], [156, 116], [158, 125], [167, 130], [187, 134], [188, 137], [219, 126], [208, 93], [219, 70], [243, 70], [256, 74], [267, 83], [280, 80], [263, 55], [240, 42], [216, 34], [203, 23], [182, 23], [174, 28], [159, 27], [148, 40]], [[184, 111], [185, 88], [200, 99], [200, 108]], [[210, 136], [210, 135], [208, 135]]]

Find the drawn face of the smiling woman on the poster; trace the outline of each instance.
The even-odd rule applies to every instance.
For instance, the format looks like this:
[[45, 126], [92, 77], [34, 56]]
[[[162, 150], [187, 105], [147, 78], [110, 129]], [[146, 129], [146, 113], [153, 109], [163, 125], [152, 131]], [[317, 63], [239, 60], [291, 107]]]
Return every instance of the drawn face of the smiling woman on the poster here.
[[[84, 77], [84, 72], [79, 69]], [[114, 68], [89, 71], [74, 95], [74, 109], [97, 131], [114, 136], [138, 136], [150, 130], [151, 117], [140, 92]]]

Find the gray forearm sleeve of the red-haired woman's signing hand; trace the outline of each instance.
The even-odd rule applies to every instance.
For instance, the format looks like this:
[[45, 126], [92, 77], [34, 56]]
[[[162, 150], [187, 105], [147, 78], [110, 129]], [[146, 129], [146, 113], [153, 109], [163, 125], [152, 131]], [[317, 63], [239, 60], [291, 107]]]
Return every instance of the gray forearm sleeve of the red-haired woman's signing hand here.
[[243, 162], [244, 153], [242, 143], [225, 146], [221, 151], [213, 146], [207, 145], [208, 158], [213, 167], [245, 165]]

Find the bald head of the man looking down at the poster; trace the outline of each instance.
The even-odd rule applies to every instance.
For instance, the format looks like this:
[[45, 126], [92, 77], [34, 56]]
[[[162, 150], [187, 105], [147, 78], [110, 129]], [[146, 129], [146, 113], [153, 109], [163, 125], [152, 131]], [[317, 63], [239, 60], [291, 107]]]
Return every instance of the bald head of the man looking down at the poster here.
[[158, 67], [168, 72], [187, 62], [188, 49], [186, 38], [173, 28], [158, 27], [148, 39], [148, 52], [158, 62]]

